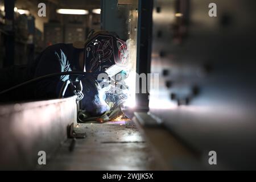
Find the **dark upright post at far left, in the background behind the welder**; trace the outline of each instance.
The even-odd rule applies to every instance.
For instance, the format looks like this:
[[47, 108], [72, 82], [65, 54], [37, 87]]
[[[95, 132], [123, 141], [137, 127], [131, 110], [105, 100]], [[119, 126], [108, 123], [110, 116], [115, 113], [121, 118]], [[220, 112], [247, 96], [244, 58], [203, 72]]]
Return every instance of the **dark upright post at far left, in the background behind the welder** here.
[[5, 1], [5, 17], [6, 17], [6, 58], [3, 61], [3, 67], [14, 65], [14, 1]]

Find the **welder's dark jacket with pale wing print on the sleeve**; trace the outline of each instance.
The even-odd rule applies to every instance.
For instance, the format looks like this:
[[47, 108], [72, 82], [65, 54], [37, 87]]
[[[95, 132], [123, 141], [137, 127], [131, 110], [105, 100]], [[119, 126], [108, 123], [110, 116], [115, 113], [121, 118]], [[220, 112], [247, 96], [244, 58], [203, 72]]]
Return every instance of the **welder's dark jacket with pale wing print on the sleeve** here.
[[[81, 51], [82, 49], [76, 49], [72, 44], [55, 44], [40, 53], [38, 58], [31, 65], [1, 69], [0, 90], [5, 90], [21, 82], [50, 73], [83, 71], [83, 68], [79, 66], [79, 53]], [[22, 86], [7, 94], [0, 95], [0, 102], [58, 98], [64, 81], [68, 79], [68, 75], [55, 76], [37, 81], [34, 84]], [[72, 92], [69, 92], [65, 96], [72, 94]], [[94, 97], [94, 94], [97, 93], [92, 93], [92, 97]], [[88, 104], [90, 105], [90, 103]]]

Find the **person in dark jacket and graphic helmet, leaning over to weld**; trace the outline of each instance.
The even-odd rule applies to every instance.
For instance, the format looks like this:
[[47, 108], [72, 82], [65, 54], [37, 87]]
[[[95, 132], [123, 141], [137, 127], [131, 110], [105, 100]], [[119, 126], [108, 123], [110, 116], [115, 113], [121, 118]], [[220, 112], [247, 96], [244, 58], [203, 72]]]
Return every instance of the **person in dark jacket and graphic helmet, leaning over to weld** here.
[[[0, 92], [51, 73], [61, 72], [106, 72], [115, 75], [127, 65], [126, 42], [114, 33], [91, 31], [85, 42], [73, 44], [55, 44], [47, 47], [30, 65], [1, 69]], [[82, 110], [91, 116], [101, 115], [108, 111], [105, 95], [101, 93], [97, 78], [94, 76], [61, 75], [48, 77], [33, 82], [10, 92], [0, 94], [0, 102], [45, 100], [59, 98], [67, 80], [80, 80], [82, 84]], [[74, 94], [69, 88], [63, 94], [69, 97]]]

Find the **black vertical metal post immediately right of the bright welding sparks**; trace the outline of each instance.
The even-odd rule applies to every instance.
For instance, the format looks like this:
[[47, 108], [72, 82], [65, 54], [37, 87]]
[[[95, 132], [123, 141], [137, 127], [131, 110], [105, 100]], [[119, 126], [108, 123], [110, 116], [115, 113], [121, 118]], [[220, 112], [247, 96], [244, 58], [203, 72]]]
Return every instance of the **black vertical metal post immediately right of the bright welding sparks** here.
[[[151, 62], [151, 40], [152, 40], [152, 10], [153, 0], [139, 0], [138, 6], [138, 36], [137, 36], [137, 73], [146, 74], [150, 73]], [[146, 93], [142, 93], [141, 79], [139, 81], [139, 93], [136, 93], [137, 109], [148, 110], [148, 96]], [[148, 81], [146, 83], [148, 85]], [[147, 86], [148, 87], [148, 86]]]

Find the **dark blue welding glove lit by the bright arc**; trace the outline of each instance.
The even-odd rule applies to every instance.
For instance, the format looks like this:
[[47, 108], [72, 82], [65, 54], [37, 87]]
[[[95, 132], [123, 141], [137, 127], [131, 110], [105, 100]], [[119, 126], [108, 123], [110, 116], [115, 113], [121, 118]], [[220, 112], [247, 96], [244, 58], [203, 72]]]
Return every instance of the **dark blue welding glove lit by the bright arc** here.
[[109, 110], [108, 104], [105, 102], [105, 92], [101, 89], [96, 79], [86, 76], [81, 79], [82, 82], [82, 110], [85, 110], [90, 117], [97, 117]]

